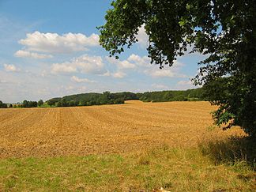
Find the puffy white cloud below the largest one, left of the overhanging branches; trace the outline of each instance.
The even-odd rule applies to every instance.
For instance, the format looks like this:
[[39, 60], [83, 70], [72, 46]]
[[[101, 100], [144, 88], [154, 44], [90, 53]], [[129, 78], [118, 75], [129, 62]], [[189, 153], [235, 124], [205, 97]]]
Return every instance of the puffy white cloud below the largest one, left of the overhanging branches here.
[[104, 62], [100, 56], [81, 55], [70, 62], [54, 63], [51, 66], [52, 73], [93, 73], [104, 74]]

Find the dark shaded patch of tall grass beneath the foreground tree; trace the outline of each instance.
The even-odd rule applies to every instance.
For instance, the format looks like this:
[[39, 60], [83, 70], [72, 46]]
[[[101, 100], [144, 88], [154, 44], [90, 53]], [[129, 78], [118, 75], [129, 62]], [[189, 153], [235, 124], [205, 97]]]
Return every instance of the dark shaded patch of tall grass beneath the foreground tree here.
[[202, 154], [215, 164], [246, 162], [256, 171], [256, 139], [252, 137], [229, 137], [224, 141], [200, 144]]

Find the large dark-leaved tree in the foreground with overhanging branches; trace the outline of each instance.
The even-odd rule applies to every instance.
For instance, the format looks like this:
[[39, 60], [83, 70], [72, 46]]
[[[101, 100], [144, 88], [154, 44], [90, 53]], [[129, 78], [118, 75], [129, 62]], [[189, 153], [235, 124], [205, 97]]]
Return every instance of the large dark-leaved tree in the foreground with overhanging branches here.
[[[242, 126], [256, 137], [256, 3], [254, 0], [116, 0], [99, 27], [100, 44], [119, 58], [149, 36], [151, 63], [172, 66], [187, 47], [206, 56], [194, 84], [219, 109], [216, 124]], [[217, 89], [217, 92], [215, 92]]]

